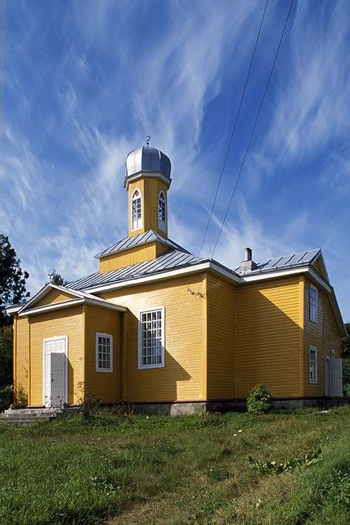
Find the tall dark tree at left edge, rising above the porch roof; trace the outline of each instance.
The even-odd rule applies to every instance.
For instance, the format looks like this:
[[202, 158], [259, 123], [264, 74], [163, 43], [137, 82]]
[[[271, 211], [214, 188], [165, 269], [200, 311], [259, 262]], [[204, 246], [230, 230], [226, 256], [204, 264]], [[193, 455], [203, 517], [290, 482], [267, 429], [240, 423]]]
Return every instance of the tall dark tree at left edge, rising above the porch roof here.
[[0, 327], [11, 324], [11, 318], [6, 314], [8, 305], [20, 303], [30, 296], [25, 290], [25, 281], [29, 273], [21, 270], [21, 261], [16, 258], [8, 237], [0, 235]]

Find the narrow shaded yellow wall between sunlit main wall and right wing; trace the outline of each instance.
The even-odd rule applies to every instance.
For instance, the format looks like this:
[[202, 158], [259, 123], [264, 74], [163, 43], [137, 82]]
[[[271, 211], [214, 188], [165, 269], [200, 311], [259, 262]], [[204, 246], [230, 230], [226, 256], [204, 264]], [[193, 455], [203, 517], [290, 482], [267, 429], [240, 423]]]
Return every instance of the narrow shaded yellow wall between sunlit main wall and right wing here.
[[207, 397], [235, 397], [235, 286], [209, 275]]

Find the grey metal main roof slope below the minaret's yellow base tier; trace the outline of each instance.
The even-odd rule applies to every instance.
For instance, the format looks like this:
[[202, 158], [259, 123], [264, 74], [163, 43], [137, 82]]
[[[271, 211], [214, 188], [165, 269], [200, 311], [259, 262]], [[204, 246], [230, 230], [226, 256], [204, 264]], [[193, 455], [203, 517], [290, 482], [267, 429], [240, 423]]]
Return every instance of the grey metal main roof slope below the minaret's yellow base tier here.
[[127, 268], [119, 268], [113, 272], [94, 273], [88, 277], [83, 277], [69, 283], [69, 288], [73, 290], [86, 290], [86, 288], [93, 288], [95, 286], [103, 286], [108, 283], [117, 283], [119, 281], [127, 281], [128, 279], [137, 279], [138, 277], [146, 277], [158, 272], [166, 272], [176, 270], [177, 268], [184, 268], [192, 264], [198, 264], [209, 259], [200, 259], [191, 255], [191, 253], [168, 250], [157, 259], [152, 261], [145, 261], [143, 263], [128, 266]]

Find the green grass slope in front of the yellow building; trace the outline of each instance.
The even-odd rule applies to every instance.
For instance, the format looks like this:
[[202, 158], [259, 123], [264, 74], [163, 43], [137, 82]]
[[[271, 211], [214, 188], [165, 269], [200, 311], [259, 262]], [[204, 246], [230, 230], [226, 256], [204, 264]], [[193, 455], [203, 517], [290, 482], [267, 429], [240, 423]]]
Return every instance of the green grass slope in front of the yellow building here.
[[0, 524], [348, 525], [349, 422], [347, 406], [1, 425]]

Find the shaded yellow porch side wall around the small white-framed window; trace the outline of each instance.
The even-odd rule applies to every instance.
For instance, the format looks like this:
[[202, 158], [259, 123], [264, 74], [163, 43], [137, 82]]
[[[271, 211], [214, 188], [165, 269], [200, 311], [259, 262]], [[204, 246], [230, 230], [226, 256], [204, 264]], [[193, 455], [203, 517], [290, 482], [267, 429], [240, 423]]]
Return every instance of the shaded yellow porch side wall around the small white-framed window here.
[[[106, 310], [97, 306], [85, 306], [86, 351], [84, 357], [84, 383], [90, 392], [102, 397], [106, 403], [121, 401], [121, 312]], [[96, 372], [96, 333], [113, 336], [113, 373]]]

